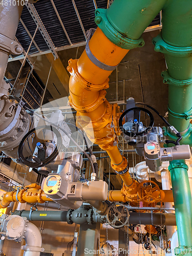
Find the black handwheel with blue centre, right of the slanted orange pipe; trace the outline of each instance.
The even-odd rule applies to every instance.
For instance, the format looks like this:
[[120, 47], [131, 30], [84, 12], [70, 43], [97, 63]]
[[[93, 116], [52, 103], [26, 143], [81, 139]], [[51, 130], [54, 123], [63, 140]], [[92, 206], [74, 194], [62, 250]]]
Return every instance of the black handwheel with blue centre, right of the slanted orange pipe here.
[[[132, 132], [127, 132], [124, 129], [122, 122], [123, 122], [123, 118], [125, 117], [125, 115], [127, 113], [130, 113], [131, 111], [134, 111], [133, 127], [132, 127]], [[150, 125], [148, 127], [146, 127], [144, 131], [138, 132], [138, 124], [140, 123], [141, 111], [145, 112], [150, 117]], [[125, 112], [123, 112], [123, 114], [119, 118], [119, 127], [120, 127], [121, 131], [129, 137], [143, 136], [143, 135], [147, 134], [147, 132], [152, 129], [153, 125], [154, 125], [154, 117], [153, 117], [152, 113], [147, 109], [140, 108], [139, 106], [135, 106], [135, 108], [126, 110]]]

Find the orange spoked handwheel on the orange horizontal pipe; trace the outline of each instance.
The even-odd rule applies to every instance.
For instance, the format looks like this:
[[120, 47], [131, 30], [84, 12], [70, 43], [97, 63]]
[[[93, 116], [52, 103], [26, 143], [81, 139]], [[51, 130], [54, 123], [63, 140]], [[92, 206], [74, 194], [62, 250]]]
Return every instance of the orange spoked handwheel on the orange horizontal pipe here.
[[142, 181], [137, 187], [137, 195], [139, 197], [139, 201], [143, 201], [145, 203], [161, 201], [160, 188], [152, 180]]

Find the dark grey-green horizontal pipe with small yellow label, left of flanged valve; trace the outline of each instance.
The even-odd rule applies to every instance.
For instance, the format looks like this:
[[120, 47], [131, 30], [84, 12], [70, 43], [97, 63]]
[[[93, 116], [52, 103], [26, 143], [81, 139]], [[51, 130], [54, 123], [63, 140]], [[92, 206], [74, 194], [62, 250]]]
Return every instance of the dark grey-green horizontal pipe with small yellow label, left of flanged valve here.
[[30, 210], [15, 210], [13, 212], [13, 215], [26, 217], [28, 220], [31, 221], [67, 221], [67, 210], [33, 210], [31, 214], [30, 212]]

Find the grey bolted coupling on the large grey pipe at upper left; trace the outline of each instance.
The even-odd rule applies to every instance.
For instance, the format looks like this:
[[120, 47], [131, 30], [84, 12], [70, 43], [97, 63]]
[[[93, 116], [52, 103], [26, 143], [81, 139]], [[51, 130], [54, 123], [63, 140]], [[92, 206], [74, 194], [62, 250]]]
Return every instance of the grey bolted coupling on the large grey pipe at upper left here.
[[8, 54], [22, 54], [23, 48], [16, 41], [9, 37], [0, 34], [0, 51], [7, 52]]

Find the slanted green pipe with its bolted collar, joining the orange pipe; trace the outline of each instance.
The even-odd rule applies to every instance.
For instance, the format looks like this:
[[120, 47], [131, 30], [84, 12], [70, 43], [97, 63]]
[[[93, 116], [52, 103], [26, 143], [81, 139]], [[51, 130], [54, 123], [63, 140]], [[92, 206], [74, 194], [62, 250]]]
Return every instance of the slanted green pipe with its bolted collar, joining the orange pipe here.
[[115, 45], [123, 49], [144, 46], [141, 35], [167, 0], [115, 0], [109, 9], [97, 9], [95, 22]]

